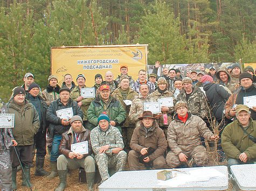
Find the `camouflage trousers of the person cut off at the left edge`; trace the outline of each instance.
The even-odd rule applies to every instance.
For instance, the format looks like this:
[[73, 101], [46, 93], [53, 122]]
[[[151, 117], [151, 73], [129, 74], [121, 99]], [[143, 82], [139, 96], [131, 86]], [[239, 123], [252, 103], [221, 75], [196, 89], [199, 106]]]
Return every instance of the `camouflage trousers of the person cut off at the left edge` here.
[[10, 150], [0, 151], [0, 185], [3, 190], [11, 189], [11, 174]]

